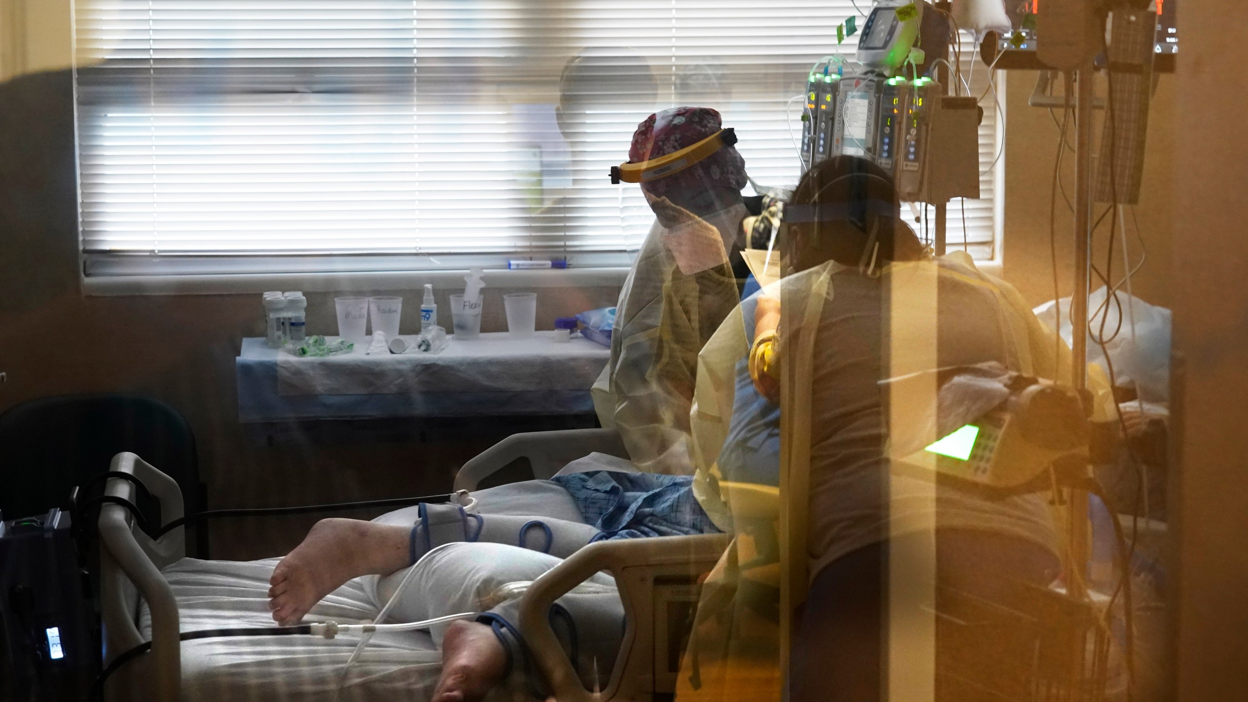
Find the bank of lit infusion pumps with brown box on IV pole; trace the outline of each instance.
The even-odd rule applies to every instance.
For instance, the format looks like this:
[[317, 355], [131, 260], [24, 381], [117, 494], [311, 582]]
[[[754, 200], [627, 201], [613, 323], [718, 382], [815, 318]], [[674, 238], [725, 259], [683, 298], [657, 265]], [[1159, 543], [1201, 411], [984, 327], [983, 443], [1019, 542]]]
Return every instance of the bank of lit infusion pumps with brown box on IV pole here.
[[927, 77], [815, 71], [809, 79], [804, 169], [831, 156], [861, 156], [892, 175], [905, 201], [980, 196], [982, 110], [973, 97], [945, 95]]

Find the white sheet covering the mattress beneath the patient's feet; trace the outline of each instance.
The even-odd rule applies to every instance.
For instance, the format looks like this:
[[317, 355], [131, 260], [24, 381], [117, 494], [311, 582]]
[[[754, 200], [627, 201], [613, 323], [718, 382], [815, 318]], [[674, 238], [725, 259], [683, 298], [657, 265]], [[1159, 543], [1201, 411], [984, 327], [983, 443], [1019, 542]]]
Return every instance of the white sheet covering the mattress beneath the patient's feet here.
[[[268, 613], [268, 577], [278, 558], [200, 561], [183, 558], [163, 570], [173, 588], [181, 630], [276, 626]], [[359, 580], [339, 587], [305, 622], [359, 623], [377, 616]], [[146, 605], [140, 631], [151, 636]], [[205, 638], [182, 643], [182, 700], [285, 700], [332, 702], [358, 636]], [[423, 701], [433, 696], [441, 653], [426, 632], [378, 633], [351, 667], [341, 702]], [[505, 693], [495, 688], [492, 698]]]

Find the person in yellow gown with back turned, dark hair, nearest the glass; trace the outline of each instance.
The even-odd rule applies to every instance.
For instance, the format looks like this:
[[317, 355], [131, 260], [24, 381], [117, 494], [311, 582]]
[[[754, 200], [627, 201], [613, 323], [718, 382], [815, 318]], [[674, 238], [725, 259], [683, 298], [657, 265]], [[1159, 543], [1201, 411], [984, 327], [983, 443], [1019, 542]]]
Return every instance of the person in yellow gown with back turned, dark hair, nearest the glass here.
[[[912, 605], [886, 595], [890, 555], [934, 552], [937, 583], [987, 601], [1058, 573], [1045, 496], [987, 500], [890, 471], [890, 435], [904, 431], [891, 422], [905, 420], [881, 381], [993, 361], [1052, 378], [1058, 356], [1070, 367], [1017, 291], [965, 254], [931, 257], [897, 209], [891, 177], [866, 160], [814, 167], [784, 212], [790, 275], [701, 351], [694, 488], [736, 540], [703, 590], [678, 700], [779, 700], [782, 680], [795, 702], [880, 700], [887, 607]], [[779, 541], [781, 510], [800, 538]], [[780, 671], [779, 553], [790, 543], [809, 581]]]

